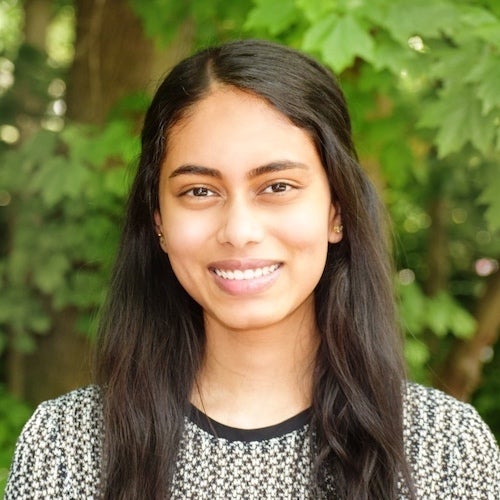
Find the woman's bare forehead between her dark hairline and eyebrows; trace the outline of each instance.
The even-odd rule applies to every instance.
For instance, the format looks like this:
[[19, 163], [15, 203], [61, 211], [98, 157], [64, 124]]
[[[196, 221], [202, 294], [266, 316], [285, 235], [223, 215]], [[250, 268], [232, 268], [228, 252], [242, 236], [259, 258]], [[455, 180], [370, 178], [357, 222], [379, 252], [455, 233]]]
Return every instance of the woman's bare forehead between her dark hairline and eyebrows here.
[[233, 87], [218, 87], [171, 128], [166, 163], [180, 156], [217, 162], [228, 155], [233, 161], [255, 157], [258, 162], [259, 155], [273, 152], [307, 156], [315, 153], [315, 147], [308, 132], [265, 99]]

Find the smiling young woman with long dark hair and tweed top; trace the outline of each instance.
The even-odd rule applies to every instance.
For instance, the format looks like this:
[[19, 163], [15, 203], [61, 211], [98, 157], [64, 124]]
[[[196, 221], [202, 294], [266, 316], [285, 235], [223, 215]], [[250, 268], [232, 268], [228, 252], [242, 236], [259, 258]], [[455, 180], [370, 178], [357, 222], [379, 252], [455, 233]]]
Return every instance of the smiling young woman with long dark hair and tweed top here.
[[405, 382], [380, 214], [328, 71], [250, 40], [181, 62], [97, 385], [39, 407], [7, 498], [500, 498], [476, 412]]

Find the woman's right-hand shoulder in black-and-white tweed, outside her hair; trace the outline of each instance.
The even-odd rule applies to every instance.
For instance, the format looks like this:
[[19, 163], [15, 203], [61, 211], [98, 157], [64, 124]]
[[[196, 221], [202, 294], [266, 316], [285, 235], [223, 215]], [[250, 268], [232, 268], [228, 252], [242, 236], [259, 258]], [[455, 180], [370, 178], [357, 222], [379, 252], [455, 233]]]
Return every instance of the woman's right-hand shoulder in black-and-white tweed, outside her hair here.
[[500, 498], [498, 445], [471, 405], [409, 383], [404, 395], [404, 439], [423, 497], [446, 491], [450, 498]]

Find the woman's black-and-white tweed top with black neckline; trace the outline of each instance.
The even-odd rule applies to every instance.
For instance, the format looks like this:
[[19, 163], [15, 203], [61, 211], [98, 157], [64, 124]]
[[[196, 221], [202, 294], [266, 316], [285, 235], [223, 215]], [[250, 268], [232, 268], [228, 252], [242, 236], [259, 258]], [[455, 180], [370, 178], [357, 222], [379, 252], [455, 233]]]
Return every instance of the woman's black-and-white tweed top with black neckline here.
[[[419, 498], [500, 499], [498, 445], [470, 405], [409, 384], [404, 423]], [[19, 438], [5, 499], [98, 498], [101, 432], [96, 387], [42, 403]], [[172, 498], [309, 498], [310, 447], [308, 412], [272, 427], [240, 430], [193, 408]]]

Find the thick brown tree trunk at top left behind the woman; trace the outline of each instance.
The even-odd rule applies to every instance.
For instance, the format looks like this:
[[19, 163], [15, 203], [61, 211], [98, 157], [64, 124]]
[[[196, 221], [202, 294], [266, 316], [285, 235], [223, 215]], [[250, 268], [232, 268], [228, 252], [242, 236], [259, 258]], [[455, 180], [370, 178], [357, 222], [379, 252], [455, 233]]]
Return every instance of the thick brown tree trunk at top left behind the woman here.
[[119, 99], [148, 88], [154, 44], [124, 0], [77, 0], [76, 14], [68, 118], [103, 123]]

